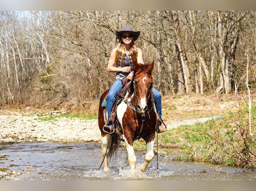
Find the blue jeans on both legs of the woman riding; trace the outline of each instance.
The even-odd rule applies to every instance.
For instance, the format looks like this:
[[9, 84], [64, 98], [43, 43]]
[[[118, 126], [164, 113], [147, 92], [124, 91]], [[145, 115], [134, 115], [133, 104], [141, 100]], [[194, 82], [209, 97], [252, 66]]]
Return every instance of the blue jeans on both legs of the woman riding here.
[[[108, 119], [110, 116], [112, 104], [118, 95], [119, 91], [122, 88], [122, 81], [121, 80], [116, 80], [114, 84], [111, 86], [109, 93], [107, 95], [107, 112], [108, 112]], [[152, 89], [154, 93], [154, 99], [156, 100], [156, 108], [159, 114], [159, 117], [161, 118], [162, 116], [162, 104], [161, 104], [161, 94], [153, 87]]]

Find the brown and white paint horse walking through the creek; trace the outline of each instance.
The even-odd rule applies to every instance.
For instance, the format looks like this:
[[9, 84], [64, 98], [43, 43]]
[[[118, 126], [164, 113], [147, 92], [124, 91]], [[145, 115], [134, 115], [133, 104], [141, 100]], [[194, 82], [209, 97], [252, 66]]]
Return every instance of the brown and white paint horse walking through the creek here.
[[[135, 170], [136, 156], [133, 142], [142, 138], [147, 147], [145, 162], [139, 167], [142, 172], [146, 171], [149, 162], [154, 157], [155, 130], [157, 128], [157, 109], [153, 98], [153, 80], [151, 72], [154, 67], [147, 62], [144, 65], [136, 63], [134, 65], [135, 75], [133, 80], [127, 82], [127, 90], [124, 91], [123, 99], [116, 108], [116, 131], [108, 134], [103, 131], [103, 126], [107, 121], [107, 109], [103, 101], [109, 90], [100, 97], [98, 124], [101, 131], [102, 155], [104, 171], [109, 170], [108, 159], [113, 157], [120, 145], [120, 140], [125, 142], [125, 163], [132, 171]], [[127, 154], [128, 153], [128, 154]], [[100, 166], [101, 168], [101, 166]], [[99, 169], [100, 169], [99, 168]]]

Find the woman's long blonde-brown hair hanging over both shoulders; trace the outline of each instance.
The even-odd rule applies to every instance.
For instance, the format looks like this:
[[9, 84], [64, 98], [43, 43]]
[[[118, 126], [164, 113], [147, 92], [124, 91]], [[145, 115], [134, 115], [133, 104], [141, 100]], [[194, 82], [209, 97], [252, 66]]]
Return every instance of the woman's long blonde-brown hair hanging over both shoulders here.
[[[122, 41], [122, 39], [120, 38], [118, 41], [118, 44], [116, 45], [117, 51], [116, 51], [116, 56], [115, 56], [115, 64], [117, 64], [118, 59], [121, 58], [121, 60], [123, 61], [123, 63], [121, 63], [121, 67], [123, 67], [124, 63], [125, 63], [124, 62], [125, 49], [124, 49], [124, 46], [120, 44], [121, 41]], [[132, 43], [132, 46], [129, 50], [129, 54], [132, 57], [133, 64], [137, 64], [137, 55], [138, 55], [137, 46], [135, 45], [133, 40], [131, 43]]]

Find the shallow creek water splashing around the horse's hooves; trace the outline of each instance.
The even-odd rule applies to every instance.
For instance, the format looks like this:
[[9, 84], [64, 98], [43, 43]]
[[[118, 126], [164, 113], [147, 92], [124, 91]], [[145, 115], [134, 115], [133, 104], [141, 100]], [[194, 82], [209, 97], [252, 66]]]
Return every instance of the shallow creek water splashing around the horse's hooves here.
[[[242, 168], [221, 167], [203, 162], [176, 162], [173, 160], [179, 150], [164, 150], [167, 154], [156, 156], [149, 163], [147, 171], [131, 172], [124, 166], [122, 149], [116, 160], [111, 160], [110, 171], [100, 170], [101, 143], [52, 143], [21, 142], [0, 143], [0, 155], [9, 155], [8, 160], [1, 160], [9, 166], [8, 171], [21, 172], [21, 180], [256, 180], [256, 171]], [[136, 167], [144, 162], [145, 154], [135, 152]]]

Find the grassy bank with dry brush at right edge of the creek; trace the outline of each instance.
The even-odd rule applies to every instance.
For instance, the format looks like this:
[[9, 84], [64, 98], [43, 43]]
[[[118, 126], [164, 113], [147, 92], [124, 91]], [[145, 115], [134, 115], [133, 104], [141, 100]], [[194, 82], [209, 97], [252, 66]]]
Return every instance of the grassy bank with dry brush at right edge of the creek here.
[[180, 126], [158, 135], [160, 147], [180, 148], [185, 155], [177, 160], [205, 161], [215, 165], [256, 168], [256, 105], [251, 110], [249, 132], [248, 106], [226, 116]]

